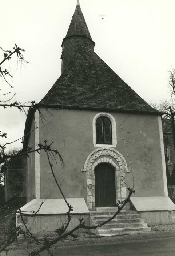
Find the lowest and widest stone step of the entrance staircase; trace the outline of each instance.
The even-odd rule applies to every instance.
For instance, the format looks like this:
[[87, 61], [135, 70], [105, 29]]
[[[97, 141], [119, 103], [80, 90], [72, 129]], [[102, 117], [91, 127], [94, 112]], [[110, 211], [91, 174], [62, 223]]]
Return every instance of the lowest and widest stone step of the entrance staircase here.
[[96, 234], [100, 236], [121, 236], [124, 234], [134, 234], [150, 232], [151, 227], [128, 227], [128, 228], [116, 228], [116, 229], [96, 229]]

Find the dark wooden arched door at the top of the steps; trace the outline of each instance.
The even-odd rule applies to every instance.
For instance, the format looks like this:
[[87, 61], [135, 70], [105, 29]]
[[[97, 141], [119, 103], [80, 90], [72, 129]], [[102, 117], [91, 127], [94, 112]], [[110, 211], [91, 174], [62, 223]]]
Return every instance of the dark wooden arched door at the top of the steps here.
[[115, 169], [109, 163], [95, 167], [95, 206], [114, 207], [116, 204]]

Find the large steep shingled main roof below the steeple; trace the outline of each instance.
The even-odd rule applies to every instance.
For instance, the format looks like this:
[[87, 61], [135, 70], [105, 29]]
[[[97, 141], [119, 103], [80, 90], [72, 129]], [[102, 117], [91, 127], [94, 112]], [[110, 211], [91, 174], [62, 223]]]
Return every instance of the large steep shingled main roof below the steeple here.
[[86, 44], [39, 105], [159, 113]]

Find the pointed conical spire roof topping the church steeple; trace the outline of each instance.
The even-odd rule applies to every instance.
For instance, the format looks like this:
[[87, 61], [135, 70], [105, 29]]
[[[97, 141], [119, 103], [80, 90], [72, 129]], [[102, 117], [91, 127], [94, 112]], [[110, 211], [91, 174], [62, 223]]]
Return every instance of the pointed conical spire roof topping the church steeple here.
[[77, 2], [77, 6], [72, 16], [72, 20], [65, 38], [70, 37], [72, 35], [82, 35], [89, 37], [92, 40], [83, 13], [81, 11], [79, 1]]

